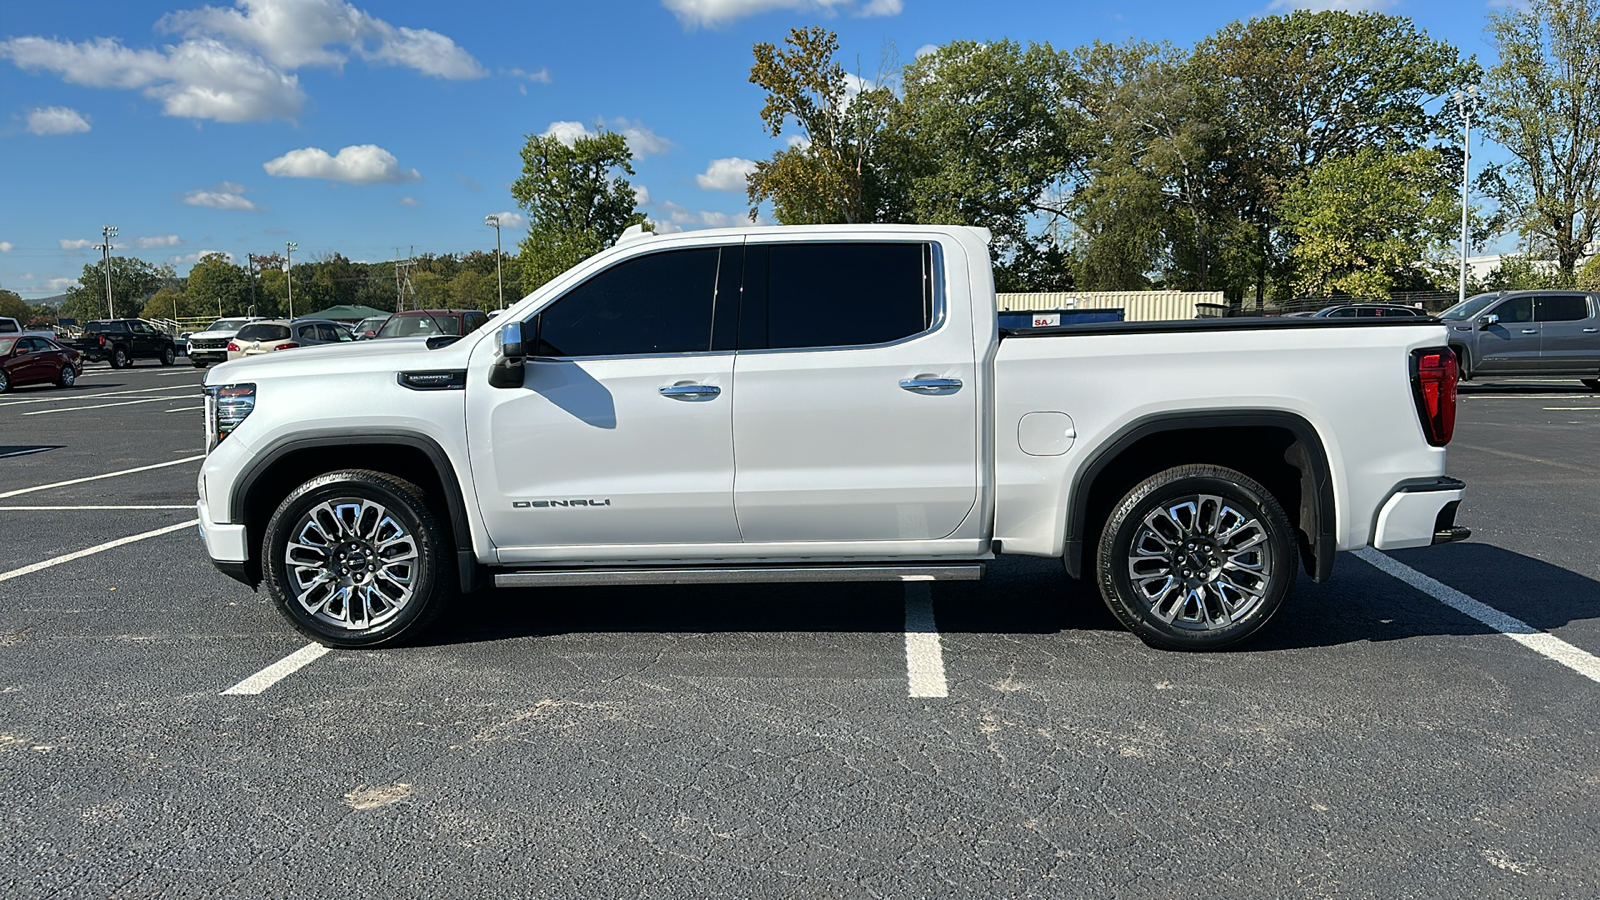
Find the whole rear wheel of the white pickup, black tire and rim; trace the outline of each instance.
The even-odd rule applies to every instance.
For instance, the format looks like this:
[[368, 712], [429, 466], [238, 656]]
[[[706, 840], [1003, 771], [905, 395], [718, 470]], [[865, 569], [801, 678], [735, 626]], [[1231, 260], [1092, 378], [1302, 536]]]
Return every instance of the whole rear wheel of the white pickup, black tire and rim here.
[[1272, 620], [1298, 556], [1267, 488], [1234, 469], [1178, 466], [1117, 503], [1094, 569], [1106, 605], [1150, 647], [1219, 650]]

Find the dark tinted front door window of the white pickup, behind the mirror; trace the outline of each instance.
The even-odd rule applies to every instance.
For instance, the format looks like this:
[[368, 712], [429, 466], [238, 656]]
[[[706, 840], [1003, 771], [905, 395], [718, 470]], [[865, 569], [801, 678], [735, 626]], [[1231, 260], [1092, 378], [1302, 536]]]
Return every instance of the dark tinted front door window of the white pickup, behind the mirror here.
[[718, 253], [669, 250], [611, 266], [539, 314], [534, 356], [709, 351]]

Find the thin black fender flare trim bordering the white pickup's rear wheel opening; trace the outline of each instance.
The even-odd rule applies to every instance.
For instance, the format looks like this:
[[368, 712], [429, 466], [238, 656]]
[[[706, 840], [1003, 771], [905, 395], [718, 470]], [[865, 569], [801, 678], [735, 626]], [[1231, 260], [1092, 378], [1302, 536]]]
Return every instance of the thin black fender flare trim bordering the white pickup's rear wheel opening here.
[[1088, 525], [1090, 492], [1094, 480], [1125, 450], [1165, 431], [1187, 431], [1197, 428], [1282, 428], [1286, 429], [1306, 450], [1306, 464], [1312, 476], [1309, 496], [1302, 493], [1302, 503], [1310, 501], [1315, 532], [1312, 533], [1312, 559], [1306, 560], [1306, 573], [1312, 581], [1325, 581], [1333, 575], [1333, 556], [1338, 548], [1336, 511], [1333, 496], [1333, 469], [1328, 464], [1328, 450], [1322, 444], [1317, 429], [1306, 418], [1285, 410], [1218, 410], [1218, 412], [1176, 412], [1155, 413], [1125, 424], [1090, 456], [1088, 464], [1072, 477], [1072, 488], [1067, 508], [1066, 543], [1062, 546], [1062, 562], [1074, 578], [1082, 577], [1083, 540]]

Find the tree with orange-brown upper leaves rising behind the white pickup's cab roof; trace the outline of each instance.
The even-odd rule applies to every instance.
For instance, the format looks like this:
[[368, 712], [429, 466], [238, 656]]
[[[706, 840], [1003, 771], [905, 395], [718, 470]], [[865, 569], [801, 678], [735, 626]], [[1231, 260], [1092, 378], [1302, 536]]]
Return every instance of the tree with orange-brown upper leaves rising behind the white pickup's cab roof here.
[[853, 93], [834, 59], [838, 37], [830, 30], [790, 29], [784, 43], [789, 50], [754, 46], [750, 83], [766, 91], [766, 135], [779, 138], [794, 122], [800, 139], [755, 163], [747, 183], [750, 221], [763, 202], [782, 224], [904, 221], [904, 184], [890, 138], [899, 106], [894, 91], [858, 75], [862, 90]]

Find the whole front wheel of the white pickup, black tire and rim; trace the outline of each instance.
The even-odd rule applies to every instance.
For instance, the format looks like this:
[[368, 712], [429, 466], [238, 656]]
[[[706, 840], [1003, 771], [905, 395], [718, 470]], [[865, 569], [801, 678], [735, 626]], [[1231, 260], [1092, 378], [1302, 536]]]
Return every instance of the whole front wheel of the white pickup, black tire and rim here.
[[[322, 540], [333, 536], [330, 528], [339, 533], [338, 543]], [[389, 538], [379, 540], [382, 535]], [[301, 538], [298, 565], [290, 562], [291, 538]], [[410, 546], [381, 549], [395, 541]], [[310, 544], [330, 549], [304, 549]], [[344, 469], [299, 485], [272, 514], [261, 548], [267, 591], [278, 609], [301, 634], [328, 647], [379, 647], [414, 637], [459, 588], [450, 527], [421, 488], [384, 472]], [[386, 552], [394, 559], [387, 565]], [[414, 562], [402, 559], [406, 552]], [[322, 577], [328, 580], [318, 586]], [[406, 586], [411, 593], [397, 596]], [[349, 602], [357, 597], [360, 610]]]

